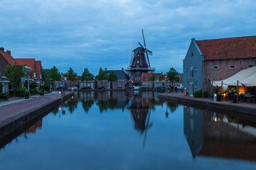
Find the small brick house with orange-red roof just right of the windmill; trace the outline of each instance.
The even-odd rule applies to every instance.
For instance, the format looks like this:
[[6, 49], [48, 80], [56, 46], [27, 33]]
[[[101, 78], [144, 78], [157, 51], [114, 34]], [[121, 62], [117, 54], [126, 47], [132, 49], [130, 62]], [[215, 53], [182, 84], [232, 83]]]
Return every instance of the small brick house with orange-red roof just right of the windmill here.
[[[156, 81], [154, 81], [154, 87], [157, 86], [164, 86], [162, 84], [162, 79], [164, 78], [163, 73], [155, 73], [156, 74]], [[152, 73], [142, 73], [142, 86], [146, 86], [148, 88], [154, 88], [153, 87], [153, 81], [150, 80], [150, 77], [152, 76]]]

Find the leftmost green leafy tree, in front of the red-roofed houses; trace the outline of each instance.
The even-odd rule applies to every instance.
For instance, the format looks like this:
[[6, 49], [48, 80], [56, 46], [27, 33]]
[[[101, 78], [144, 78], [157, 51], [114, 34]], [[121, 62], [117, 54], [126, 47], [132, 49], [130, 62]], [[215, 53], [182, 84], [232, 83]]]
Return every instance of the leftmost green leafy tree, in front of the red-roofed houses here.
[[13, 65], [8, 64], [4, 69], [4, 74], [11, 81], [11, 84], [14, 88], [14, 96], [16, 95], [15, 91], [21, 86], [21, 77], [26, 77], [28, 72], [24, 69], [23, 66], [18, 66], [16, 62]]

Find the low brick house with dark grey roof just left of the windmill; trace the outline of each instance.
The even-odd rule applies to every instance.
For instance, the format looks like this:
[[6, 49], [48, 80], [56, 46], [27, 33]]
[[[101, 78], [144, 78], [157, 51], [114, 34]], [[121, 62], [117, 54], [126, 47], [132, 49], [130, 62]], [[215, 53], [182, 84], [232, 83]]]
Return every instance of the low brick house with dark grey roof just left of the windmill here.
[[[107, 74], [110, 74], [111, 70], [107, 70]], [[117, 81], [112, 82], [112, 89], [125, 89], [125, 86], [127, 85], [129, 81], [129, 77], [124, 72], [124, 69], [122, 70], [113, 70], [115, 74], [117, 74]], [[97, 81], [97, 86], [105, 86], [106, 89], [110, 89], [110, 82], [107, 80]]]

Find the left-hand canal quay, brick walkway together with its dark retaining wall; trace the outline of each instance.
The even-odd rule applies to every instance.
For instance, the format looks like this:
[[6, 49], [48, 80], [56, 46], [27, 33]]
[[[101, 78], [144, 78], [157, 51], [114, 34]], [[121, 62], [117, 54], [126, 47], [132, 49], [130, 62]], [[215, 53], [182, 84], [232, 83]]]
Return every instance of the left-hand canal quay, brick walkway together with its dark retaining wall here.
[[0, 139], [11, 134], [23, 125], [49, 113], [55, 106], [73, 96], [66, 91], [63, 96], [58, 93], [47, 96], [32, 96], [29, 99], [0, 105]]

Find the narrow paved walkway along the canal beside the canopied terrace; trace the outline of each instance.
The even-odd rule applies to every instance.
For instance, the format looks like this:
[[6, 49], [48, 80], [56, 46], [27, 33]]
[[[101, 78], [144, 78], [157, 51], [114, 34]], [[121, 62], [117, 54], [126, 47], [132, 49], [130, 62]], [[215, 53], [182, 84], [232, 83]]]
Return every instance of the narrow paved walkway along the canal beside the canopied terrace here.
[[[204, 101], [204, 102], [208, 102], [208, 103], [214, 103], [212, 99], [210, 98], [194, 98], [192, 96], [182, 96], [181, 93], [170, 93], [170, 94], [159, 94], [159, 96], [169, 96], [170, 98], [173, 97], [177, 97], [177, 98], [188, 98], [189, 100], [193, 100], [193, 101]], [[256, 103], [252, 103], [252, 102], [239, 102], [239, 103], [233, 103], [233, 101], [228, 101], [228, 100], [223, 100], [223, 101], [217, 101], [216, 103], [220, 104], [220, 105], [225, 105], [225, 106], [238, 106], [238, 107], [242, 107], [242, 108], [253, 108], [255, 109], [255, 113], [256, 113]]]

